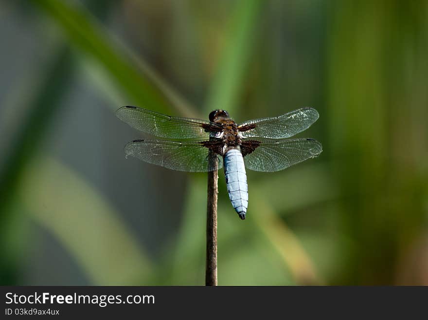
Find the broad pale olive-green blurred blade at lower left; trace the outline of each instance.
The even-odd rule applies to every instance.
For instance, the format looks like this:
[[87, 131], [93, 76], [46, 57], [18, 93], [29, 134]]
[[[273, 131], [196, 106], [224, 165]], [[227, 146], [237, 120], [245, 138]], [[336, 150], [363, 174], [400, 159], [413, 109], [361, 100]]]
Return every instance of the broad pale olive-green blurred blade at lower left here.
[[130, 285], [153, 268], [103, 197], [70, 168], [38, 158], [26, 170], [19, 199], [75, 258], [96, 285]]

